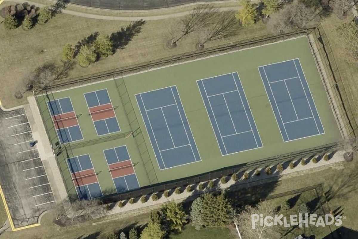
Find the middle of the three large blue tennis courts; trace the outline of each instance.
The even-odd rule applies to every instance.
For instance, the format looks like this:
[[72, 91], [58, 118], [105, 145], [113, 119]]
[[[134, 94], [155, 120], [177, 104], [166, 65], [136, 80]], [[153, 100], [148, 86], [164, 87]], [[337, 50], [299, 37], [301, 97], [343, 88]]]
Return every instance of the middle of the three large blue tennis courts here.
[[221, 154], [262, 147], [238, 73], [197, 81]]

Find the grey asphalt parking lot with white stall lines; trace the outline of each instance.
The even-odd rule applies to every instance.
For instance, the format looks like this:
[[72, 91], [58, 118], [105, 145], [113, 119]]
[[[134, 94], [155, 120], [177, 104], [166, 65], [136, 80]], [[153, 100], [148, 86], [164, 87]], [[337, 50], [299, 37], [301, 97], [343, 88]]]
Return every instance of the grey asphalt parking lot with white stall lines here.
[[36, 224], [55, 199], [25, 109], [0, 111], [0, 130], [0, 185], [14, 226]]

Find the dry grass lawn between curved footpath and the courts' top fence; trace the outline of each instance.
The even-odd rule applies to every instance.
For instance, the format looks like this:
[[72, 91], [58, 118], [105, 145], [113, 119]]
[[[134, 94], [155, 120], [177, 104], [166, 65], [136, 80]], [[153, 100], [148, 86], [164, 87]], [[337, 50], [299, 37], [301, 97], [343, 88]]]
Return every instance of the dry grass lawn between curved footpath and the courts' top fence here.
[[[9, 3], [6, 2], [6, 4]], [[75, 66], [69, 77], [88, 75], [194, 51], [195, 35], [179, 42], [179, 46], [174, 49], [168, 49], [165, 46], [166, 29], [171, 21], [173, 19], [147, 21], [142, 25], [141, 32], [134, 36], [124, 49], [118, 50], [113, 56], [87, 68]], [[14, 97], [21, 77], [45, 62], [59, 62], [62, 47], [65, 44], [76, 45], [78, 41], [96, 31], [103, 34], [118, 32], [121, 27], [126, 27], [129, 24], [129, 22], [96, 20], [60, 14], [47, 24], [36, 25], [30, 31], [24, 31], [21, 27], [15, 30], [6, 30], [3, 25], [0, 25], [0, 39], [6, 39], [0, 40], [0, 72], [2, 73], [0, 96], [3, 105], [9, 108], [24, 104], [25, 97], [22, 100], [16, 100]], [[71, 30], [69, 31], [69, 29]], [[209, 42], [207, 47], [267, 33], [265, 25], [259, 23], [250, 28], [242, 28], [236, 37]]]

